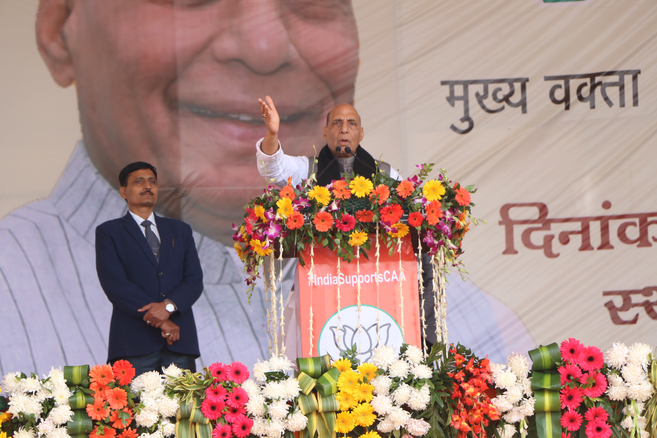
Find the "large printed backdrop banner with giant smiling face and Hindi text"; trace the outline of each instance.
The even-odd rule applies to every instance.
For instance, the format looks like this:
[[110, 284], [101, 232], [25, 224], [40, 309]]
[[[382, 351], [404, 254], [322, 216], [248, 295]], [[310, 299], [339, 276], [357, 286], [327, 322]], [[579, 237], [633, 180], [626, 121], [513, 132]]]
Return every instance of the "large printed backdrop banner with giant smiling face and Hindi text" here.
[[117, 177], [138, 160], [158, 169], [157, 213], [194, 230], [198, 364], [268, 357], [231, 240], [265, 185], [265, 95], [287, 154], [321, 148], [351, 102], [363, 147], [403, 177], [435, 163], [476, 185], [486, 224], [464, 239], [466, 281], [449, 278], [451, 341], [496, 362], [570, 336], [657, 343], [654, 1], [38, 3], [0, 3], [2, 374], [108, 359], [95, 228], [125, 214]]

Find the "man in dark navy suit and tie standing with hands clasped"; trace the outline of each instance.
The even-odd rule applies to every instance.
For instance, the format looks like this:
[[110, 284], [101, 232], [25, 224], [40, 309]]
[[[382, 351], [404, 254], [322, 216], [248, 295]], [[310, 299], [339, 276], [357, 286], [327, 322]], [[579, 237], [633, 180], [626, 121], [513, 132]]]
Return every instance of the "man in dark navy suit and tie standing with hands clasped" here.
[[107, 360], [130, 361], [137, 375], [171, 363], [195, 371], [200, 355], [192, 305], [203, 272], [191, 227], [153, 213], [157, 176], [148, 163], [125, 166], [128, 212], [96, 229], [96, 270], [114, 307]]

